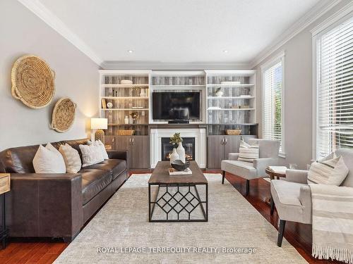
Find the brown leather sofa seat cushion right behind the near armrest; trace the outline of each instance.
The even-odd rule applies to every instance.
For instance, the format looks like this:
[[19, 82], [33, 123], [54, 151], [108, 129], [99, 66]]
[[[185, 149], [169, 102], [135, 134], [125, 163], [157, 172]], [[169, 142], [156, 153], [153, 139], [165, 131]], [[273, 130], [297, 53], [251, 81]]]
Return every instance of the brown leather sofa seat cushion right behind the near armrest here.
[[112, 174], [106, 170], [83, 168], [78, 173], [82, 175], [83, 205], [102, 191], [112, 182]]

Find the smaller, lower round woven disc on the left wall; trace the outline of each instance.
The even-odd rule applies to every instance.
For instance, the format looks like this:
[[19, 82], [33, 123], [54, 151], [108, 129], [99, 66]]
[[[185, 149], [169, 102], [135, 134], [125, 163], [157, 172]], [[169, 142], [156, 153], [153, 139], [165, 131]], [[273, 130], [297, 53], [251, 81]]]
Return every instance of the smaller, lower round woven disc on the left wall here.
[[56, 102], [53, 110], [51, 128], [57, 132], [66, 132], [75, 119], [76, 103], [68, 98], [61, 98]]

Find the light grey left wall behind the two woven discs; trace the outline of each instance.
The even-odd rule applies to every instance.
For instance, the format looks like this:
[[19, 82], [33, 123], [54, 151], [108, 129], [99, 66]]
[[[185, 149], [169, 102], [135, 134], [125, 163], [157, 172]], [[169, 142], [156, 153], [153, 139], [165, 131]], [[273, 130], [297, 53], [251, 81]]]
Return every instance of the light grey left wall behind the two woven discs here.
[[[79, 139], [90, 135], [90, 117], [98, 115], [99, 66], [18, 1], [0, 1], [0, 150]], [[32, 109], [11, 96], [11, 68], [25, 54], [44, 58], [55, 70], [56, 93], [51, 105]], [[77, 104], [71, 130], [49, 130], [54, 103], [68, 96]]]

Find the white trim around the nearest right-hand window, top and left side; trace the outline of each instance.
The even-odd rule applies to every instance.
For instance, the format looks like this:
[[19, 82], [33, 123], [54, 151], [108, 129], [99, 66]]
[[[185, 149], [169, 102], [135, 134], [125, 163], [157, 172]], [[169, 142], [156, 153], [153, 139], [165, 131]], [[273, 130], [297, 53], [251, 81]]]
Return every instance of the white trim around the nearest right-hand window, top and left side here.
[[344, 6], [339, 11], [331, 15], [327, 20], [323, 21], [323, 23], [317, 25], [311, 30], [312, 34], [312, 73], [313, 73], [313, 82], [312, 82], [312, 95], [313, 95], [313, 127], [312, 127], [312, 161], [316, 161], [318, 158], [318, 71], [317, 71], [317, 57], [318, 50], [317, 44], [318, 39], [321, 36], [333, 28], [340, 25], [340, 23], [348, 20], [353, 15], [353, 4], [350, 3], [347, 6]]

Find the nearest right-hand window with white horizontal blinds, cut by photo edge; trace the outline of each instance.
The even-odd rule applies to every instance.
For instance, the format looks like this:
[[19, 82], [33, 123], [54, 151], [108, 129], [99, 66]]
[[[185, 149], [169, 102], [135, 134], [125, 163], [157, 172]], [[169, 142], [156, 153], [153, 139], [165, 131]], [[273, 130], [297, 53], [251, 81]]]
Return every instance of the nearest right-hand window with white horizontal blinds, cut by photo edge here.
[[353, 148], [353, 18], [316, 37], [316, 158]]

